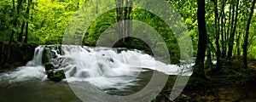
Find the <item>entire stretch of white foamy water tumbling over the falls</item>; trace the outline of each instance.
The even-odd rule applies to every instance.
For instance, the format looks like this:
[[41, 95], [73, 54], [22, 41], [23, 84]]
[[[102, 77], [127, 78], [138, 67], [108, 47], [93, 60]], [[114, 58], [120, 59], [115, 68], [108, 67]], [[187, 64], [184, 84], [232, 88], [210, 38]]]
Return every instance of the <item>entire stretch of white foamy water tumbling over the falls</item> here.
[[[1, 82], [24, 82], [32, 78], [47, 80], [42, 65], [44, 49], [49, 62], [65, 71], [67, 82], [90, 82], [98, 88], [126, 88], [136, 85], [142, 71], [154, 70], [167, 75], [190, 76], [189, 65], [166, 65], [138, 50], [119, 51], [114, 48], [89, 48], [74, 45], [38, 46], [32, 61], [15, 71], [0, 74]], [[61, 53], [61, 51], [62, 53]], [[148, 70], [147, 70], [148, 69]]]

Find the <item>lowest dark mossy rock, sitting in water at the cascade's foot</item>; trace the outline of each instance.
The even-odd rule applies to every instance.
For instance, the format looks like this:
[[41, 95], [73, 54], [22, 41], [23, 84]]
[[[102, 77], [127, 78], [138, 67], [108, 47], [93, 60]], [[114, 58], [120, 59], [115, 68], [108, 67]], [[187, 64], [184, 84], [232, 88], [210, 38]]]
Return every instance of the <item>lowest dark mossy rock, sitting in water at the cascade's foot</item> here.
[[49, 80], [54, 81], [54, 82], [60, 82], [62, 79], [66, 78], [65, 73], [63, 70], [59, 71], [46, 71], [47, 72], [47, 77]]

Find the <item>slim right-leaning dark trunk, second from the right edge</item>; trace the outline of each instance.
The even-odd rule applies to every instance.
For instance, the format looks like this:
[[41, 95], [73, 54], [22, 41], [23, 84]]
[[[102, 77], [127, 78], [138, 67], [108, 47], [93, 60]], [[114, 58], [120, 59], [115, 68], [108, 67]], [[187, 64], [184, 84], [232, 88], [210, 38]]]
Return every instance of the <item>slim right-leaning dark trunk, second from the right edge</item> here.
[[[236, 15], [235, 15], [236, 17], [235, 17], [235, 21], [234, 21], [234, 26], [233, 26], [232, 32], [230, 33], [228, 58], [230, 58], [232, 56], [234, 37], [235, 37], [235, 34], [236, 34], [236, 24], [237, 24], [237, 17], [238, 17], [239, 0], [237, 0], [236, 2], [237, 2], [236, 3]], [[235, 11], [235, 9], [233, 9], [233, 11]]]

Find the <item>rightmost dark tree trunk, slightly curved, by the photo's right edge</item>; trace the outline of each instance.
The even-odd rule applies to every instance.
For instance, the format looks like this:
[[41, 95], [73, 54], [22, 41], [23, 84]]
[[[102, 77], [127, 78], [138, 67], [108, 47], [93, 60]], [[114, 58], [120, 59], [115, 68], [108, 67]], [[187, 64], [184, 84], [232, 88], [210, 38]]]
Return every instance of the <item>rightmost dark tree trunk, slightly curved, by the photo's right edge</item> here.
[[254, 6], [255, 6], [255, 2], [256, 2], [256, 0], [253, 0], [252, 8], [251, 8], [251, 13], [249, 14], [249, 18], [247, 20], [247, 30], [246, 30], [246, 35], [244, 37], [244, 44], [242, 46], [242, 48], [243, 48], [243, 63], [244, 63], [244, 68], [246, 68], [246, 69], [247, 69], [248, 37], [249, 37], [250, 23], [251, 23], [252, 16], [253, 16], [253, 9], [254, 9]]

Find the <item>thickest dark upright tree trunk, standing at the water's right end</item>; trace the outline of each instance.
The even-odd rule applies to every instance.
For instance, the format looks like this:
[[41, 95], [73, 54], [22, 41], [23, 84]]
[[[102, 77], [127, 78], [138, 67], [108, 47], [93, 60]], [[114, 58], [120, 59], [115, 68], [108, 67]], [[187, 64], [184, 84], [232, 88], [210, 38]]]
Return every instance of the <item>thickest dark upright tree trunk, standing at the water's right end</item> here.
[[204, 78], [204, 60], [207, 49], [207, 27], [205, 20], [205, 0], [197, 0], [197, 20], [198, 20], [198, 30], [199, 30], [199, 41], [198, 41], [198, 51], [195, 60], [195, 76]]

